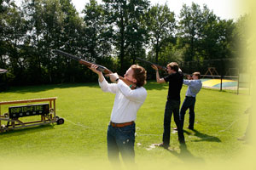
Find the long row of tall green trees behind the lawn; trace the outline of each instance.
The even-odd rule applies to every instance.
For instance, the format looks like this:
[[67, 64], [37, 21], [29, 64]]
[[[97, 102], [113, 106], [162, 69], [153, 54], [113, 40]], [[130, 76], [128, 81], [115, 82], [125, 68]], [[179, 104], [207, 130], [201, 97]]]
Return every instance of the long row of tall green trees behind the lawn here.
[[[90, 82], [96, 76], [84, 65], [51, 53], [61, 49], [117, 71], [148, 59], [159, 65], [176, 61], [184, 72], [220, 74], [237, 67], [245, 42], [247, 15], [221, 20], [207, 5], [183, 5], [174, 14], [148, 0], [90, 0], [79, 15], [71, 0], [2, 0], [0, 81], [13, 85]], [[240, 66], [242, 69], [242, 66]]]

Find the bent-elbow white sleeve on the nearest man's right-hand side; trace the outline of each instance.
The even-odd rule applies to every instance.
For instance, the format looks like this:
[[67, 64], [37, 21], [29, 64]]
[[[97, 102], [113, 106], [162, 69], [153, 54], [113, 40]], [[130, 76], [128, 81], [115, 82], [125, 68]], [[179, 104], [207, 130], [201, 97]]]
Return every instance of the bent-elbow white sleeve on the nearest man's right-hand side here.
[[117, 85], [120, 92], [131, 101], [143, 103], [147, 97], [147, 91], [145, 90], [145, 88], [137, 88], [131, 90], [131, 88], [129, 88], [122, 80], [119, 80]]

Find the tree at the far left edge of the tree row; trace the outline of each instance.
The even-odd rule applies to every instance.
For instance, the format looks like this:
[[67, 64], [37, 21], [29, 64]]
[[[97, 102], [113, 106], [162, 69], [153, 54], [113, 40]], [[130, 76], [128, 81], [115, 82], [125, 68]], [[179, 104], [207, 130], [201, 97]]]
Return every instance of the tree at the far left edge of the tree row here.
[[[17, 84], [25, 78], [24, 57], [20, 55], [23, 37], [26, 34], [26, 20], [14, 2], [1, 4], [1, 65], [9, 69], [9, 76]], [[3, 26], [3, 27], [2, 27]], [[3, 51], [2, 51], [3, 49]]]

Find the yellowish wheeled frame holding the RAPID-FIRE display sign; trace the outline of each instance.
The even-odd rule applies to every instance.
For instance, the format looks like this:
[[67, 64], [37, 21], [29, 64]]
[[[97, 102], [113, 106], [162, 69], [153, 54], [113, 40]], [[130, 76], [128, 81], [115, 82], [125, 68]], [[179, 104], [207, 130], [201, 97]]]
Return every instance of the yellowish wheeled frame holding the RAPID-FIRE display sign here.
[[[49, 123], [56, 122], [57, 124], [63, 124], [64, 119], [56, 116], [56, 105], [55, 100], [57, 98], [44, 98], [44, 99], [24, 99], [24, 100], [15, 100], [15, 101], [2, 101], [0, 102], [0, 132], [5, 132], [11, 129], [20, 128], [20, 127], [32, 127], [38, 125], [45, 125]], [[2, 115], [2, 105], [12, 105], [12, 104], [26, 104], [32, 105], [32, 103], [37, 102], [49, 102], [49, 114], [41, 115], [41, 120], [33, 122], [21, 122], [19, 118], [10, 118], [9, 113], [3, 113]], [[2, 124], [6, 122], [6, 124]]]

